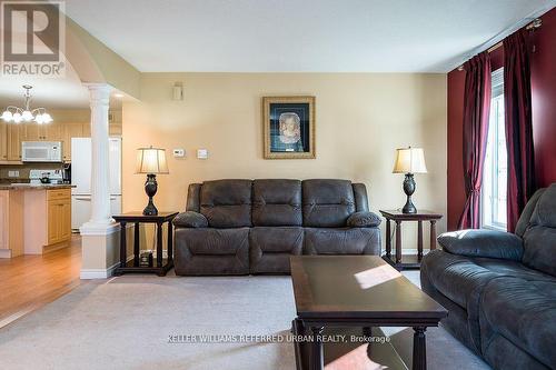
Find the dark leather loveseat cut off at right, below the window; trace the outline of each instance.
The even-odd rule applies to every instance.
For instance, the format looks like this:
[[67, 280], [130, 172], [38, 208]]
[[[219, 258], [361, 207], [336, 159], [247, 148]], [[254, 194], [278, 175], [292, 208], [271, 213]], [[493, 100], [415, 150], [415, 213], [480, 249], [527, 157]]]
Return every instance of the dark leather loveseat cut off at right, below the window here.
[[556, 369], [556, 183], [538, 190], [516, 232], [438, 238], [423, 289], [449, 310], [456, 338], [495, 369]]

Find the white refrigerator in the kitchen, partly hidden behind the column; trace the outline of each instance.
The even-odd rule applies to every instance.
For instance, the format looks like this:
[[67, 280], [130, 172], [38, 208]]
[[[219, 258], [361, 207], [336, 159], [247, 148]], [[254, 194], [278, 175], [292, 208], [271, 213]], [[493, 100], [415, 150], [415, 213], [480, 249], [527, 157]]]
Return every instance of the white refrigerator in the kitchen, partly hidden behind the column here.
[[[121, 138], [109, 138], [110, 211], [121, 213]], [[91, 138], [71, 139], [71, 229], [91, 218]]]

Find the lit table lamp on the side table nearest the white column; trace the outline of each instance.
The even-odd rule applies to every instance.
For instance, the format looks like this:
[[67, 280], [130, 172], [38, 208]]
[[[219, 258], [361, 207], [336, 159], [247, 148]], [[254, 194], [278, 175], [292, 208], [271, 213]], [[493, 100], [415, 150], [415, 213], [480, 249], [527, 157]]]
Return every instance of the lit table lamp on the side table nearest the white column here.
[[152, 197], [155, 197], [158, 190], [157, 173], [169, 173], [168, 163], [166, 162], [166, 149], [152, 147], [137, 149], [136, 173], [147, 173], [145, 192], [149, 197], [149, 203], [142, 211], [142, 214], [158, 214], [158, 210], [152, 202]]

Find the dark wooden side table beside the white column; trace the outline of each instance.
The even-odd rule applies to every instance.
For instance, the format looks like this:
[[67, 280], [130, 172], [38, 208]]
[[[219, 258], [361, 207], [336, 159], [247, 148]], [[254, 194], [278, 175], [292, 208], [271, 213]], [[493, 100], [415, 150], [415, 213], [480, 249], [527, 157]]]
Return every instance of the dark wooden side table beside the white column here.
[[[123, 214], [112, 216], [120, 223], [120, 266], [116, 268], [115, 274], [120, 276], [127, 272], [148, 273], [155, 272], [159, 277], [163, 277], [168, 270], [173, 267], [173, 233], [172, 220], [178, 212], [158, 212], [156, 216], [145, 216], [141, 211], [128, 212]], [[127, 238], [126, 226], [135, 223], [133, 233], [133, 259], [127, 262]], [[168, 222], [168, 258], [162, 259], [162, 224]], [[157, 224], [157, 260], [153, 267], [139, 266], [139, 224], [156, 223]]]

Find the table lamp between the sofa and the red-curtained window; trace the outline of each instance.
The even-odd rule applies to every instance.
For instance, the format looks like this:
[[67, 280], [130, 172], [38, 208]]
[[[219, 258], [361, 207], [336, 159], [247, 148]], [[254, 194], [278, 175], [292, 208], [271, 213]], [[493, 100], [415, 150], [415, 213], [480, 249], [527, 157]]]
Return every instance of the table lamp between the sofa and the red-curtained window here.
[[411, 202], [411, 194], [415, 192], [414, 173], [427, 173], [425, 164], [425, 154], [421, 148], [400, 148], [396, 149], [396, 162], [394, 163], [393, 173], [405, 173], [404, 192], [407, 196], [407, 201], [401, 212], [417, 213], [417, 209]]

